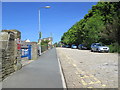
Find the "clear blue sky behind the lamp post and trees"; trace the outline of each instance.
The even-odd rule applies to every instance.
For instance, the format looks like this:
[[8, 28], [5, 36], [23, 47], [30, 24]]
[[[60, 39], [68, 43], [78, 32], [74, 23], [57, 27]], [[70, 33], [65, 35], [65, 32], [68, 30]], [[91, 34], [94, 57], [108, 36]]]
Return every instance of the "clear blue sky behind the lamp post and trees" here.
[[72, 25], [84, 18], [84, 15], [97, 2], [3, 2], [2, 29], [21, 31], [21, 39], [38, 40], [38, 9], [50, 5], [50, 9], [42, 8], [40, 16], [42, 38], [53, 36], [58, 42], [61, 36]]

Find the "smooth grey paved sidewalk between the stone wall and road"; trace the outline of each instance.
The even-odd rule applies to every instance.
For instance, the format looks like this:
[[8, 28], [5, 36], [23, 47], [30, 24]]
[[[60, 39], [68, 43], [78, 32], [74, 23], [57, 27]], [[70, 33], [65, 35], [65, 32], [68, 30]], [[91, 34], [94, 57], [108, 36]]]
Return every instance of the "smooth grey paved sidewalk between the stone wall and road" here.
[[63, 88], [55, 48], [3, 81], [3, 88]]

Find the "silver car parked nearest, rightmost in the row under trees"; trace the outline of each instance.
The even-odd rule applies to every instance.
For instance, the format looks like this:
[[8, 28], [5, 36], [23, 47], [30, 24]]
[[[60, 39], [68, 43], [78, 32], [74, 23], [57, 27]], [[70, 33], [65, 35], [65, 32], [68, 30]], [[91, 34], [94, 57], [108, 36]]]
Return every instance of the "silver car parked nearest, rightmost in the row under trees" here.
[[109, 52], [109, 47], [107, 46], [102, 46], [100, 43], [93, 43], [91, 45], [91, 52], [96, 51], [96, 52]]

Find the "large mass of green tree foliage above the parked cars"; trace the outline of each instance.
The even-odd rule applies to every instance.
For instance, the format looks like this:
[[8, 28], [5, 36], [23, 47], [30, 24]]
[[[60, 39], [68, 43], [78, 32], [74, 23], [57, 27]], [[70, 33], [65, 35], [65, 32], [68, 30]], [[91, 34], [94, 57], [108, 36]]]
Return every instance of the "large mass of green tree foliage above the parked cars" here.
[[82, 20], [75, 23], [61, 38], [64, 44], [90, 44], [101, 42], [106, 45], [120, 42], [120, 2], [98, 2]]

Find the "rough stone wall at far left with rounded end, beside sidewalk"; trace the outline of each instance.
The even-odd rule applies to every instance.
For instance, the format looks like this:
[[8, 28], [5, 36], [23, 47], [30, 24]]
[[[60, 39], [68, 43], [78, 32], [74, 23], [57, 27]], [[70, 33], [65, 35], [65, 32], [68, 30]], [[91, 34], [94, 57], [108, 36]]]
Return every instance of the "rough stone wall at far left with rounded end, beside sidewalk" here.
[[21, 68], [20, 50], [17, 49], [17, 30], [3, 30], [0, 32], [0, 63], [2, 64], [2, 79]]

